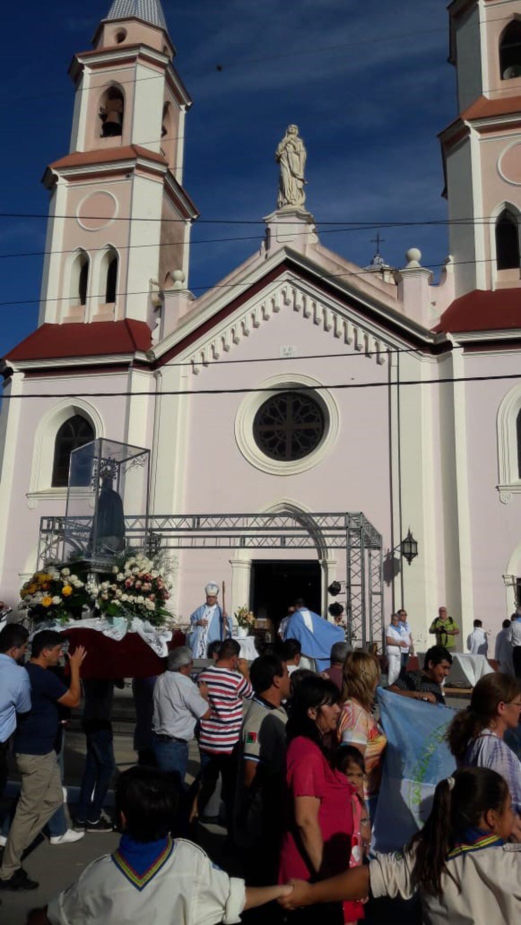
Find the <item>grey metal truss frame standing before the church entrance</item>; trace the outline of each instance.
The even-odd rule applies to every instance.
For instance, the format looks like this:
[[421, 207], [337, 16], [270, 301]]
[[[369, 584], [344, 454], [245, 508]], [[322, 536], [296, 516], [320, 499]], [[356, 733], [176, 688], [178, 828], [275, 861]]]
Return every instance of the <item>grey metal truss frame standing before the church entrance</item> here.
[[[90, 559], [92, 517], [43, 517], [39, 564]], [[345, 549], [348, 638], [383, 636], [382, 537], [363, 513], [155, 514], [125, 517], [127, 549]], [[101, 564], [101, 562], [100, 562]]]

